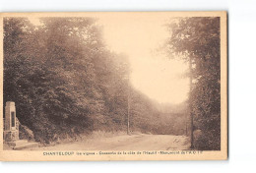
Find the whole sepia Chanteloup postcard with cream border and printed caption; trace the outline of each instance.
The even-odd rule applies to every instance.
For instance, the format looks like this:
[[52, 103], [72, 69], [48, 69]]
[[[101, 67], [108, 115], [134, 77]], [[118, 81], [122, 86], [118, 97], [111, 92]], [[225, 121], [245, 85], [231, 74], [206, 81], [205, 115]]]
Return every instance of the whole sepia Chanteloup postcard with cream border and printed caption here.
[[0, 20], [0, 160], [227, 159], [226, 12]]

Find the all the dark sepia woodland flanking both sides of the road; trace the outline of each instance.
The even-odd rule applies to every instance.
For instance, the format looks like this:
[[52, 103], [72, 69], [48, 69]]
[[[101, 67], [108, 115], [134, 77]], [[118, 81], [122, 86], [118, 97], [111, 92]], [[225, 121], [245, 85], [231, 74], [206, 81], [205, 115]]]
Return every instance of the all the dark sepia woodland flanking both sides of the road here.
[[189, 99], [176, 112], [132, 87], [129, 57], [107, 48], [96, 19], [39, 20], [34, 26], [28, 18], [4, 18], [4, 102], [16, 102], [36, 142], [125, 132], [129, 107], [133, 132], [190, 134], [192, 148], [221, 149], [220, 18], [166, 25], [163, 52], [190, 66]]

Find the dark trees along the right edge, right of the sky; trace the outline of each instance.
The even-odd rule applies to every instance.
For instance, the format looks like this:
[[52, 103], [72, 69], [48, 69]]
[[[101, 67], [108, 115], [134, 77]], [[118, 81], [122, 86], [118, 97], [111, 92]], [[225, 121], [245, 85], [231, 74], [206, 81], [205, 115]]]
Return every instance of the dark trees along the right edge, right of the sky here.
[[168, 24], [169, 57], [190, 63], [189, 98], [194, 116], [194, 145], [221, 149], [220, 18], [176, 18]]

